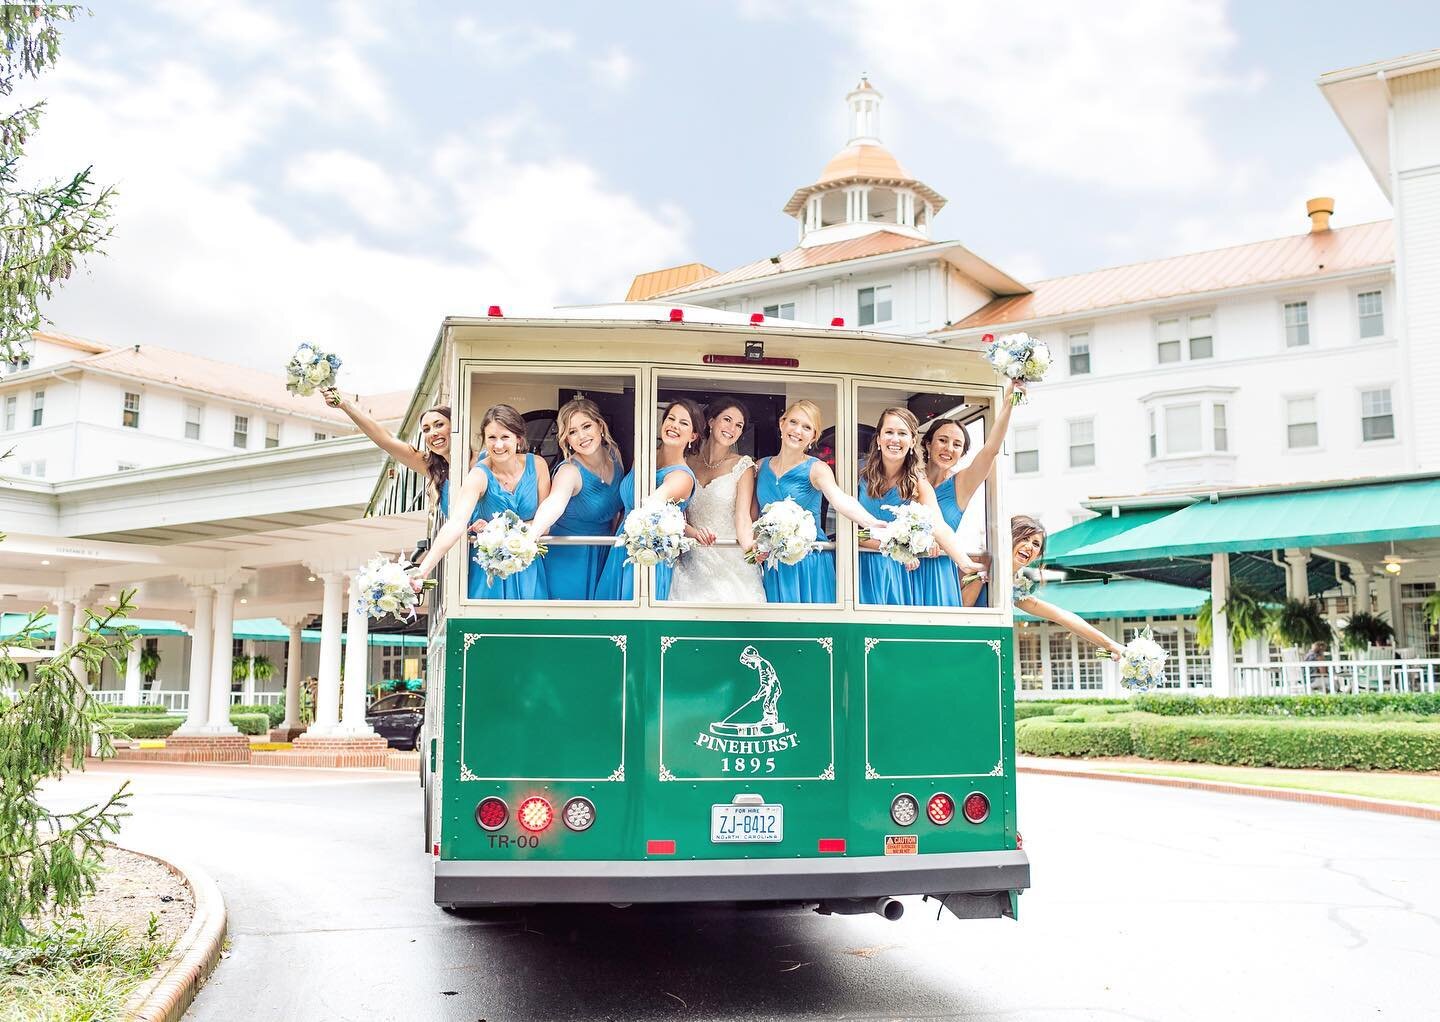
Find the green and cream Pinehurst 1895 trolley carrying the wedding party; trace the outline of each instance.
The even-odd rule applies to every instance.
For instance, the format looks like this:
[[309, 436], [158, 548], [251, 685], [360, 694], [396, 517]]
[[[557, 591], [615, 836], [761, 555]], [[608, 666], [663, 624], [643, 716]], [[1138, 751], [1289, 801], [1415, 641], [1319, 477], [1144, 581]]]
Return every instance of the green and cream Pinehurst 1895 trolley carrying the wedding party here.
[[[854, 494], [881, 409], [959, 419], [978, 442], [1002, 394], [963, 345], [698, 308], [491, 312], [444, 322], [410, 410], [454, 407], [452, 488], [477, 471], [475, 428], [497, 403], [524, 413], [553, 463], [556, 410], [590, 399], [644, 497], [670, 400], [739, 396], [742, 449], [762, 458], [808, 399], [827, 423], [815, 453]], [[999, 485], [962, 535], [1004, 579]], [[403, 469], [377, 492], [389, 510], [418, 499]], [[763, 901], [896, 918], [896, 895], [923, 894], [962, 918], [1014, 917], [1030, 865], [1007, 587], [994, 606], [867, 606], [858, 559], [878, 554], [845, 518], [825, 531], [835, 597], [805, 605], [658, 600], [654, 570], [624, 602], [474, 600], [456, 546], [429, 597], [420, 744], [436, 904]]]

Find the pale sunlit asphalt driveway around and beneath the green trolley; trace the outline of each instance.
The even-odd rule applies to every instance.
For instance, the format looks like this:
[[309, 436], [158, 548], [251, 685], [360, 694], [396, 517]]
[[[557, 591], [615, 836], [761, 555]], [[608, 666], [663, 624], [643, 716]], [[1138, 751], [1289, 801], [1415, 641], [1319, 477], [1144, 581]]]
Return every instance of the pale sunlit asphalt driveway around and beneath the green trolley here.
[[1021, 777], [1021, 920], [528, 910], [431, 898], [413, 774], [105, 764], [122, 839], [219, 881], [187, 1019], [1440, 1019], [1440, 825]]

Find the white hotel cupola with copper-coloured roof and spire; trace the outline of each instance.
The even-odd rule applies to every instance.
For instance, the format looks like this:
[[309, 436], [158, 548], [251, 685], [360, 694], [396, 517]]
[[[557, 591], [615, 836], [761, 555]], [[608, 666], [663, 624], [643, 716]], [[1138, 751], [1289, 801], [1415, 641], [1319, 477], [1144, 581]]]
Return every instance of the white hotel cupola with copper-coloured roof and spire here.
[[785, 213], [799, 220], [801, 248], [828, 245], [888, 230], [929, 240], [930, 222], [945, 206], [945, 196], [910, 177], [890, 150], [880, 144], [880, 101], [884, 96], [861, 76], [845, 102], [850, 105], [850, 141], [837, 153], [819, 180], [798, 189]]

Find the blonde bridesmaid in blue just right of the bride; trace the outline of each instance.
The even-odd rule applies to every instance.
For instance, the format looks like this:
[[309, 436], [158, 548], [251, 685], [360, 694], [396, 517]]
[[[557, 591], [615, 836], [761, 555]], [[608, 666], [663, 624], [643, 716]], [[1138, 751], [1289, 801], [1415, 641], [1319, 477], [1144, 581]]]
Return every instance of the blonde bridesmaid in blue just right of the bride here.
[[[819, 517], [824, 497], [835, 511], [861, 528], [877, 528], [880, 521], [840, 488], [829, 465], [808, 453], [819, 438], [822, 422], [815, 402], [798, 400], [785, 409], [780, 416], [780, 453], [762, 458], [756, 468], [755, 495], [759, 508], [789, 497], [811, 512], [815, 534], [824, 538], [825, 528]], [[834, 603], [835, 554], [831, 550], [815, 550], [798, 564], [775, 564], [765, 571], [762, 582], [768, 603]]]

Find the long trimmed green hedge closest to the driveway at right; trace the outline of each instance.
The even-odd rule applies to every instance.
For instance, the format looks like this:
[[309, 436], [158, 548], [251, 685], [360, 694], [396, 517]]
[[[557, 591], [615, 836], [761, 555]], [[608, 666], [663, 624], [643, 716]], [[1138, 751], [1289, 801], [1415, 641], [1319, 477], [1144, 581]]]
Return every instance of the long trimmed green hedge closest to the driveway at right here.
[[1130, 737], [1135, 754], [1153, 760], [1319, 770], [1440, 770], [1437, 724], [1140, 717], [1130, 723]]

